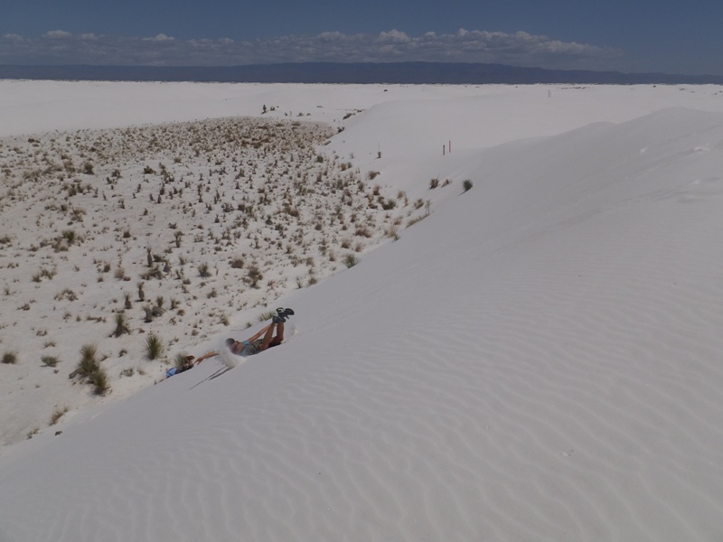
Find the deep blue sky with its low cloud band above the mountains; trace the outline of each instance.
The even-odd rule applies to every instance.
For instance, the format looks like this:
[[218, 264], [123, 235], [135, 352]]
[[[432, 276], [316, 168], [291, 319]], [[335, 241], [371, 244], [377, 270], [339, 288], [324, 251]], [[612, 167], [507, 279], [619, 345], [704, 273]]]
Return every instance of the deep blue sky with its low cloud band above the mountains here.
[[720, 0], [0, 0], [0, 63], [500, 62], [723, 75]]

